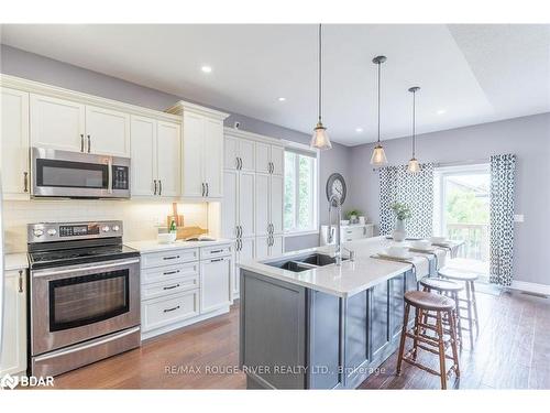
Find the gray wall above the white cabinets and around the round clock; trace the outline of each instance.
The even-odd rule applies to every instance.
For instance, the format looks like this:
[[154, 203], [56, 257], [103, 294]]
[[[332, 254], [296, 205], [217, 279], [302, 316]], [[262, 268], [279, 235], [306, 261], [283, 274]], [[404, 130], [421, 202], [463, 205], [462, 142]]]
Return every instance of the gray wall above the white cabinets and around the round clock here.
[[[166, 94], [3, 44], [0, 45], [0, 73], [155, 110], [165, 110], [180, 99], [189, 100], [185, 96], [178, 97]], [[208, 102], [195, 102], [212, 107]], [[232, 113], [230, 108], [216, 109], [231, 113], [226, 120], [226, 126], [232, 127], [234, 121], [240, 121], [240, 129], [242, 130], [300, 143], [309, 143], [309, 134], [243, 115]], [[315, 119], [311, 122], [314, 124]], [[322, 152], [320, 156], [319, 191], [321, 194], [324, 193], [324, 182], [332, 172], [340, 172], [348, 177], [349, 149], [338, 143], [334, 143], [333, 148], [332, 151]], [[321, 197], [321, 222], [324, 222], [327, 217], [328, 205], [326, 204], [326, 198]], [[287, 250], [294, 250], [316, 247], [319, 244], [318, 242], [318, 236], [294, 237], [288, 239], [286, 248]]]

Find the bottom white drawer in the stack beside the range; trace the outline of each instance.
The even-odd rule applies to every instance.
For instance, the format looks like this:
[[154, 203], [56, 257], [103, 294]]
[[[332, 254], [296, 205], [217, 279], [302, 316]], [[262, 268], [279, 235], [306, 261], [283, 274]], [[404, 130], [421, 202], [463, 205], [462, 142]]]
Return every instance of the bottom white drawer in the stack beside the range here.
[[146, 300], [141, 304], [142, 332], [164, 327], [197, 315], [199, 315], [198, 290]]

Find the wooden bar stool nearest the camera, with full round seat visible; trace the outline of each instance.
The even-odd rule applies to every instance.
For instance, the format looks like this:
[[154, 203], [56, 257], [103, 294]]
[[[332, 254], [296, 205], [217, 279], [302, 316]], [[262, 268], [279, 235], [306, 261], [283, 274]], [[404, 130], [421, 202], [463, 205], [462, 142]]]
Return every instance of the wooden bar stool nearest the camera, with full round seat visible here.
[[[405, 314], [399, 356], [397, 359], [397, 376], [402, 373], [402, 363], [405, 361], [431, 374], [439, 376], [441, 379], [441, 389], [447, 389], [447, 378], [452, 371], [454, 371], [458, 378], [460, 377], [459, 355], [457, 350], [457, 325], [453, 311], [454, 302], [443, 295], [425, 291], [406, 292], [404, 298]], [[411, 306], [415, 307], [415, 326], [408, 330], [407, 320]], [[425, 312], [433, 312], [436, 314], [436, 325], [424, 323]], [[443, 329], [443, 315], [447, 316], [450, 325], [447, 332], [449, 335], [448, 339], [446, 339], [446, 332]], [[426, 333], [428, 329], [435, 332], [436, 335], [428, 335]], [[414, 343], [413, 348], [407, 354], [405, 354], [406, 338], [411, 338]], [[452, 357], [447, 355], [449, 347], [452, 349]], [[417, 361], [419, 348], [439, 356], [439, 372]], [[453, 366], [449, 370], [446, 369], [446, 359], [453, 360]]]

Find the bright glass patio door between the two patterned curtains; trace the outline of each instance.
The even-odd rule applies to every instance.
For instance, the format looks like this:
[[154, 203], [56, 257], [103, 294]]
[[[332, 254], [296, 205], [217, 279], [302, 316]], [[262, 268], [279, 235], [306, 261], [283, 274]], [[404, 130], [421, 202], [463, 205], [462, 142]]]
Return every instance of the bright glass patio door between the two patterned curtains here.
[[488, 164], [435, 170], [433, 233], [463, 240], [461, 267], [482, 275], [490, 263], [490, 189]]

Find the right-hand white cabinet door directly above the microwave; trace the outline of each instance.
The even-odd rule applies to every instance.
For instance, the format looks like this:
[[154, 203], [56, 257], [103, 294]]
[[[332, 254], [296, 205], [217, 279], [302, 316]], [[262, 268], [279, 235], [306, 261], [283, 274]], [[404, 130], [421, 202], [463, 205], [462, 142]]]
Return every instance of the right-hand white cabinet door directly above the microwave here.
[[130, 156], [130, 116], [86, 106], [86, 152]]

